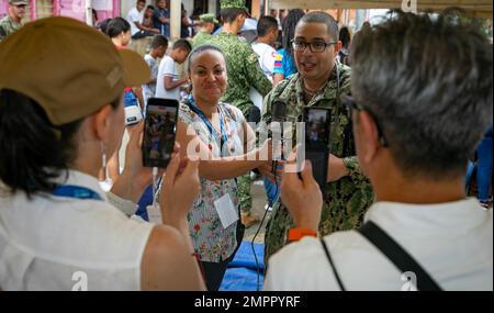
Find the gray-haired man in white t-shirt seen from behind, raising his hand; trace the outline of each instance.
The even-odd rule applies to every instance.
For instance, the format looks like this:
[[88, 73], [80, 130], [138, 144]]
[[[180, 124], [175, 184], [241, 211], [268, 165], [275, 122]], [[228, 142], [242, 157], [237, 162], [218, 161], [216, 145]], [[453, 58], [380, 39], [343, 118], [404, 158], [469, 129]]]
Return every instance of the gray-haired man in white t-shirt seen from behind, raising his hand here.
[[[377, 202], [358, 231], [276, 254], [265, 289], [493, 290], [493, 213], [463, 186], [492, 123], [493, 51], [451, 21], [398, 13], [357, 35], [344, 102]], [[281, 198], [295, 227], [315, 234], [322, 195], [305, 165], [301, 178], [283, 175]]]

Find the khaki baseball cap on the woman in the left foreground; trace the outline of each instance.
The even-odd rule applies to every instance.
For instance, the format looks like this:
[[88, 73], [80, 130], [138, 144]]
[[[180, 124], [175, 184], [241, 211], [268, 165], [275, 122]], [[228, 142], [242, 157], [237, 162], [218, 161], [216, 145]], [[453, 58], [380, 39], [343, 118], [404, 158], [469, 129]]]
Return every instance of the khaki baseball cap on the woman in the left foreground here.
[[0, 90], [36, 101], [54, 125], [82, 119], [124, 88], [150, 79], [137, 53], [116, 49], [99, 31], [69, 18], [25, 24], [0, 43]]

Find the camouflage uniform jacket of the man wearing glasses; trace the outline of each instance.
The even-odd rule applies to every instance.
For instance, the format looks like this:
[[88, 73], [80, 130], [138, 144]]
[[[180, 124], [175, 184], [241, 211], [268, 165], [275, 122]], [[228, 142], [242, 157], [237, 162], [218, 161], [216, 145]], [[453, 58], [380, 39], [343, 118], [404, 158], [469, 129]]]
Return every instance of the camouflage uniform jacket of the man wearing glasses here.
[[[337, 88], [338, 80], [336, 79], [337, 69], [339, 71], [339, 92]], [[345, 94], [350, 92], [350, 68], [337, 64], [337, 68], [335, 67], [333, 70], [326, 86], [307, 104], [304, 101], [302, 83], [303, 81], [299, 74], [281, 81], [265, 99], [262, 120], [269, 121], [271, 103], [277, 99], [282, 99], [287, 102], [287, 121], [292, 123], [302, 121], [305, 107], [328, 108], [332, 110], [332, 154], [344, 159], [345, 165], [350, 170], [350, 176], [327, 183], [327, 198], [321, 216], [319, 233], [321, 235], [327, 235], [337, 231], [356, 228], [360, 225], [366, 209], [373, 202], [373, 191], [369, 180], [361, 172], [358, 159], [355, 156], [356, 150], [349, 112], [347, 108], [338, 107], [337, 103], [339, 102], [336, 101], [337, 93]], [[334, 123], [337, 124], [335, 125]], [[293, 227], [293, 221], [287, 208], [282, 203], [274, 205], [265, 238], [266, 260], [284, 245], [285, 233], [291, 227]]]

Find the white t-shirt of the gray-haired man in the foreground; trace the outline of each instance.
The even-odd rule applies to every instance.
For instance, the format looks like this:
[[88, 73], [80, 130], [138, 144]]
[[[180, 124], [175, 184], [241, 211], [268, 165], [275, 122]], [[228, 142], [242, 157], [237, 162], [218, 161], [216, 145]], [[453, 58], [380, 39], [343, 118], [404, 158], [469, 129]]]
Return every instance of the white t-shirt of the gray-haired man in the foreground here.
[[[414, 205], [378, 202], [366, 214], [442, 290], [493, 290], [493, 212], [475, 199]], [[347, 290], [406, 287], [402, 272], [357, 231], [324, 237]], [[304, 237], [269, 260], [265, 290], [340, 290], [321, 241]]]

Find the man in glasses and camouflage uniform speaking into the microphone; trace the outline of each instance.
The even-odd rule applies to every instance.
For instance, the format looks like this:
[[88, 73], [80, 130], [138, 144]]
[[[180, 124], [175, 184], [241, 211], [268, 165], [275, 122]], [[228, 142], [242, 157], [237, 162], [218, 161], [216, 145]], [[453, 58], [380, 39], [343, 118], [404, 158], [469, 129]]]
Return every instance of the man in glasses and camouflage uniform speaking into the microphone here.
[[[340, 45], [338, 25], [330, 15], [324, 12], [306, 14], [295, 31], [294, 57], [299, 74], [281, 81], [266, 97], [262, 113], [263, 121], [269, 121], [272, 102], [278, 99], [288, 104], [287, 122], [301, 122], [307, 107], [332, 111], [330, 182], [325, 190], [327, 197], [319, 224], [321, 235], [357, 227], [366, 208], [373, 201], [371, 186], [355, 157], [349, 112], [337, 101], [340, 94], [350, 91], [350, 68], [335, 63]], [[265, 238], [266, 260], [284, 245], [285, 234], [293, 227], [287, 208], [282, 203], [274, 206]]]

